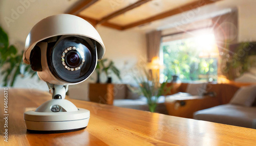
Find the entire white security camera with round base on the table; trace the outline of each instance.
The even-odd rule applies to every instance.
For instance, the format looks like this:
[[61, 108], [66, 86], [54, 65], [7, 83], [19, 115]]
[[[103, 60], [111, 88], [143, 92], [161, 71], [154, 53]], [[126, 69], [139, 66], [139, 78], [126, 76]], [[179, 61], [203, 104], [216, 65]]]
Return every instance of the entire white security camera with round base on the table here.
[[104, 44], [86, 20], [69, 14], [42, 19], [30, 31], [23, 61], [47, 82], [52, 100], [24, 113], [28, 131], [66, 132], [87, 127], [90, 111], [65, 100], [68, 86], [88, 79]]

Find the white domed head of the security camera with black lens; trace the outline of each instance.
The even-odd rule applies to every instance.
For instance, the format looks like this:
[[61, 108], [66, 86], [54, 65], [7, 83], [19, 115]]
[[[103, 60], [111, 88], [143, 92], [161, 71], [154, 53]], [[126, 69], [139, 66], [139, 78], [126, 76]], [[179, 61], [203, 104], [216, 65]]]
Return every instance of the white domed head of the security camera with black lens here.
[[23, 60], [31, 64], [40, 79], [69, 85], [86, 80], [104, 53], [104, 44], [89, 22], [59, 14], [42, 19], [32, 28]]

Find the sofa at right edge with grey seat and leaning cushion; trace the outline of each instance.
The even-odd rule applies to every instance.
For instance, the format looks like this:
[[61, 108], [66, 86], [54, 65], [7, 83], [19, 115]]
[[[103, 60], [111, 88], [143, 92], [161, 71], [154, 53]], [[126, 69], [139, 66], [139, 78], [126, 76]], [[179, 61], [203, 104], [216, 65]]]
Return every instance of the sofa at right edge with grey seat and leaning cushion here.
[[221, 85], [222, 104], [194, 113], [194, 119], [256, 129], [256, 86]]

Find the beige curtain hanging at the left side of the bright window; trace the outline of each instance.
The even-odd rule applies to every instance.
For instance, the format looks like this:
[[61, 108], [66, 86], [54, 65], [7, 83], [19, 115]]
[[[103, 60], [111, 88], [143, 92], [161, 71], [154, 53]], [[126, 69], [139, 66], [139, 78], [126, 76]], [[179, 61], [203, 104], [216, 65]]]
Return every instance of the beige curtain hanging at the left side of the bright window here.
[[153, 31], [146, 34], [147, 62], [159, 55], [161, 43], [161, 31]]

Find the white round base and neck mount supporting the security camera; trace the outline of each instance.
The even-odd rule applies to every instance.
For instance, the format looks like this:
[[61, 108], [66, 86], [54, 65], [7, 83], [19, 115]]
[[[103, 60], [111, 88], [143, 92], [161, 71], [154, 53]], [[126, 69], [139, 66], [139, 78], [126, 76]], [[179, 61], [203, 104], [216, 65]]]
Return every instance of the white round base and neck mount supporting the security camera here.
[[27, 130], [35, 133], [63, 133], [86, 128], [90, 111], [77, 108], [64, 99], [68, 86], [49, 83], [48, 86], [53, 99], [24, 113]]

